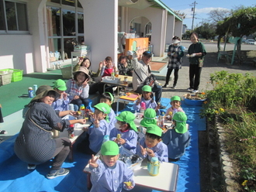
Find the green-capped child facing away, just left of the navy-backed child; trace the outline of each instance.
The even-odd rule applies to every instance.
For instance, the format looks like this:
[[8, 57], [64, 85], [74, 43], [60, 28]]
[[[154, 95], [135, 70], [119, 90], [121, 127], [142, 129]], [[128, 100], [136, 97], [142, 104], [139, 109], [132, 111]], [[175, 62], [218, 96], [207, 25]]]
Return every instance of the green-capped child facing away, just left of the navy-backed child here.
[[154, 111], [153, 108], [147, 108], [146, 111], [144, 111], [144, 118], [140, 121], [140, 126], [138, 127], [138, 141], [144, 139], [149, 125], [157, 125], [156, 116], [156, 111]]

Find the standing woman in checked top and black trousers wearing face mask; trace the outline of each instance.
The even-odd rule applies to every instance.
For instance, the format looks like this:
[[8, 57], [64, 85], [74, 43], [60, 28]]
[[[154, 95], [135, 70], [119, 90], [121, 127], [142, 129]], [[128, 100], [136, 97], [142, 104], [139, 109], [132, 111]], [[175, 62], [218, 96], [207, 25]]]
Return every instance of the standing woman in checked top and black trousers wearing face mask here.
[[169, 84], [172, 70], [175, 70], [175, 81], [171, 88], [175, 89], [178, 81], [178, 70], [182, 69], [182, 57], [184, 56], [183, 46], [178, 46], [181, 39], [178, 36], [172, 38], [172, 44], [168, 47], [168, 71], [166, 74], [166, 80], [163, 87], [167, 87]]

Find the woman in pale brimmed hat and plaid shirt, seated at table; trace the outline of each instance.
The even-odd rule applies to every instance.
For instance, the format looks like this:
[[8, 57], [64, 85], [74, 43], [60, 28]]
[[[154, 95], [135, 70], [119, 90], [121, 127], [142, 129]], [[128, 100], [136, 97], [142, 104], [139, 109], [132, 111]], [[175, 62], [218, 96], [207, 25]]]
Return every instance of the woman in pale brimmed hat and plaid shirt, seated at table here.
[[[88, 69], [86, 67], [80, 67], [78, 71], [73, 72], [74, 78], [67, 81], [66, 93], [69, 94], [68, 98], [70, 103], [77, 105], [84, 104], [85, 107], [89, 104], [89, 85], [88, 81], [90, 76], [88, 75]], [[76, 111], [76, 110], [74, 110]]]

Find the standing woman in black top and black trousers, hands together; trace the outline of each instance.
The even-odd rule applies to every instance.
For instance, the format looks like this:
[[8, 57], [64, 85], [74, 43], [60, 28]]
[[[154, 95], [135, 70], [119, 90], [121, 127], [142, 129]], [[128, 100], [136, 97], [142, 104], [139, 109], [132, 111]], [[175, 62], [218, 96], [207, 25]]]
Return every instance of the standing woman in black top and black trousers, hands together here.
[[192, 32], [190, 34], [190, 40], [192, 44], [189, 46], [189, 88], [188, 91], [192, 93], [199, 92], [200, 75], [202, 71], [203, 60], [206, 55], [205, 46], [199, 42], [199, 36], [197, 33]]

